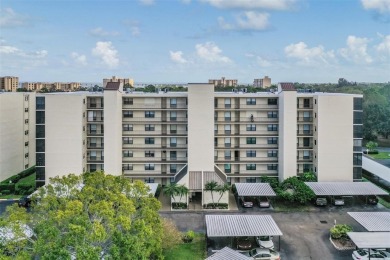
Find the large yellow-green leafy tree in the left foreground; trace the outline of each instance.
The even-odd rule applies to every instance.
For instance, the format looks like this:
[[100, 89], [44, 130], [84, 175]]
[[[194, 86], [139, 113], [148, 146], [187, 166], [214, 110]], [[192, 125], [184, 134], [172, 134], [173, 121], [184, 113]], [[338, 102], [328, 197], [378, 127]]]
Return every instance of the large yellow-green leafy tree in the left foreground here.
[[25, 245], [12, 259], [162, 258], [160, 203], [143, 182], [102, 172], [71, 174], [51, 179], [33, 200], [38, 202], [28, 217], [0, 220], [5, 227], [25, 223], [35, 234], [18, 240]]

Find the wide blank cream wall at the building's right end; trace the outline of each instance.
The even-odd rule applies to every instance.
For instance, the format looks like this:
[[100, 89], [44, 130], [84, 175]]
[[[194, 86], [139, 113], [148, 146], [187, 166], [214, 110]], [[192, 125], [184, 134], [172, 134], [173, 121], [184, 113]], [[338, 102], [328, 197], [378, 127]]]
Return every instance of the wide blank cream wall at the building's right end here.
[[329, 94], [314, 98], [318, 181], [352, 181], [353, 96]]

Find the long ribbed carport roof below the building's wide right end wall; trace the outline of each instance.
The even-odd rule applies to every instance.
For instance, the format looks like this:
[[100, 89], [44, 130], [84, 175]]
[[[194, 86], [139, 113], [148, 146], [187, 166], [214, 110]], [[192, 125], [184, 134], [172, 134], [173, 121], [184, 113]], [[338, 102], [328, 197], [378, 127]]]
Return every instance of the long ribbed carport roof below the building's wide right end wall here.
[[389, 195], [371, 182], [305, 182], [316, 195]]

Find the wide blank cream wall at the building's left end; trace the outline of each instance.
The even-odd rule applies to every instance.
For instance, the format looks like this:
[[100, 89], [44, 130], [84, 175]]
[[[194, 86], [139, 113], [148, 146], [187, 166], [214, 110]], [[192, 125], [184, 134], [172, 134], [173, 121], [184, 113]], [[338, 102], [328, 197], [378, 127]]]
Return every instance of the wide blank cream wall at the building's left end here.
[[45, 182], [86, 166], [85, 95], [45, 95]]

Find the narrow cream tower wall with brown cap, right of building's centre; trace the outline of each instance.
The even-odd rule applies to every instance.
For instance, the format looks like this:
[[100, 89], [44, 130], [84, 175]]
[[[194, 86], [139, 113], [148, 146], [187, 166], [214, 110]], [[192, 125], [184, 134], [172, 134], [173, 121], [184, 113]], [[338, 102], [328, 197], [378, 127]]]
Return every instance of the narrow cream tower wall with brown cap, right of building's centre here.
[[297, 92], [279, 94], [279, 180], [297, 174]]

